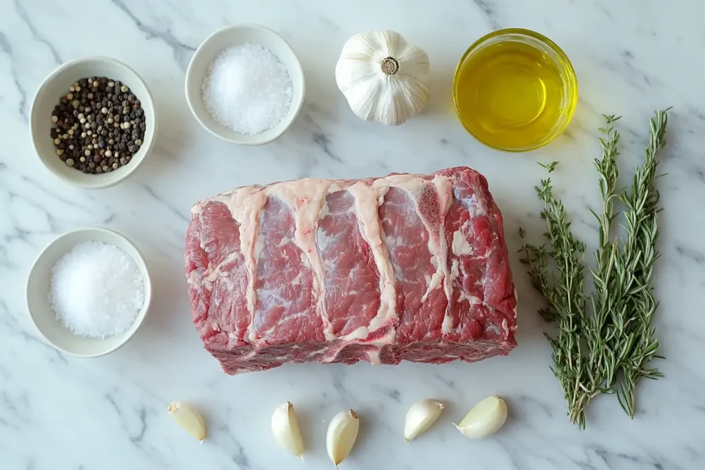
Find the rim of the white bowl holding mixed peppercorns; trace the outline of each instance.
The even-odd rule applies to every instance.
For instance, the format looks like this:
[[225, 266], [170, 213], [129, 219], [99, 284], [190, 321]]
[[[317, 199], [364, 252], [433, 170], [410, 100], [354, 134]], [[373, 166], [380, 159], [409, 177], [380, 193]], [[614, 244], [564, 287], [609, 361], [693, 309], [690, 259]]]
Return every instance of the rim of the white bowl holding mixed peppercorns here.
[[[122, 175], [119, 178], [114, 178], [114, 179], [109, 179], [105, 180], [103, 183], [80, 183], [77, 180], [73, 178], [69, 178], [66, 175], [63, 175], [61, 173], [57, 173], [54, 171], [47, 163], [44, 162], [44, 159], [42, 156], [39, 154], [39, 147], [37, 146], [37, 136], [35, 135], [34, 131], [34, 126], [32, 125], [32, 122], [37, 118], [35, 116], [35, 113], [38, 112], [36, 111], [37, 107], [37, 101], [39, 98], [39, 93], [42, 92], [42, 90], [51, 83], [51, 81], [56, 80], [56, 77], [62, 73], [64, 70], [67, 70], [69, 68], [72, 68], [74, 66], [77, 66], [81, 63], [97, 63], [97, 62], [104, 62], [104, 63], [111, 63], [111, 65], [119, 67], [119, 68], [124, 68], [127, 70], [128, 74], [132, 74], [135, 82], [139, 82], [142, 87], [145, 89], [145, 96], [140, 97], [140, 102], [142, 102], [142, 109], [145, 109], [144, 104], [147, 103], [149, 105], [149, 109], [151, 110], [152, 113], [152, 121], [154, 121], [154, 131], [152, 132], [152, 137], [149, 138], [148, 142], [142, 142], [142, 146], [140, 147], [140, 151], [144, 149], [144, 153], [140, 157], [140, 159], [133, 159], [130, 161], [130, 166], [129, 168], [126, 169], [125, 174]], [[73, 58], [70, 61], [66, 61], [62, 63], [60, 66], [54, 68], [54, 70], [51, 70], [51, 73], [47, 75], [44, 80], [42, 80], [42, 83], [39, 84], [39, 87], [37, 87], [37, 91], [34, 94], [34, 97], [32, 97], [32, 106], [30, 107], [30, 116], [29, 116], [29, 125], [30, 125], [30, 140], [32, 140], [32, 148], [35, 150], [35, 155], [41, 161], [42, 166], [44, 168], [47, 168], [47, 171], [51, 173], [52, 175], [56, 176], [56, 178], [59, 178], [60, 180], [69, 183], [73, 185], [74, 187], [78, 187], [82, 190], [102, 190], [105, 189], [106, 187], [111, 187], [115, 186], [118, 183], [121, 183], [123, 180], [127, 179], [137, 171], [137, 168], [140, 167], [142, 164], [142, 161], [145, 160], [145, 157], [147, 154], [149, 154], [150, 151], [152, 151], [152, 148], [154, 147], [154, 142], [156, 141], [157, 137], [157, 132], [159, 129], [159, 122], [157, 120], [157, 106], [154, 104], [154, 97], [152, 97], [152, 92], [149, 91], [149, 87], [147, 87], [147, 83], [145, 80], [140, 77], [140, 74], [135, 72], [133, 68], [128, 66], [126, 63], [122, 61], [118, 61], [116, 58], [108, 57], [108, 56], [83, 56], [83, 57], [77, 57]]]

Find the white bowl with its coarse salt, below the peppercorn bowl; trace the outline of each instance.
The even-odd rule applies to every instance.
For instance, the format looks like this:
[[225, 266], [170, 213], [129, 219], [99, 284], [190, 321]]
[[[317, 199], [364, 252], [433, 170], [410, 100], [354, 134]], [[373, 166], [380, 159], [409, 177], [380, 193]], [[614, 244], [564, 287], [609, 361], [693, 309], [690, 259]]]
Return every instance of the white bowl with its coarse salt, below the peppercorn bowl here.
[[69, 232], [49, 243], [27, 278], [27, 309], [59, 350], [97, 357], [140, 328], [152, 284], [139, 250], [106, 228]]

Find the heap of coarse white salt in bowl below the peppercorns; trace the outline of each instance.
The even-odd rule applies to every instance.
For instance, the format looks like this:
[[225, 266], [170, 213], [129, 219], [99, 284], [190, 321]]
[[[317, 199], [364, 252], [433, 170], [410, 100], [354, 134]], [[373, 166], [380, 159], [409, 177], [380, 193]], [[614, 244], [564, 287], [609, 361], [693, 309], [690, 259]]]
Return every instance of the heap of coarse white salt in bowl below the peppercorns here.
[[130, 328], [145, 302], [145, 283], [122, 249], [84, 242], [51, 269], [49, 303], [75, 335], [105, 338]]

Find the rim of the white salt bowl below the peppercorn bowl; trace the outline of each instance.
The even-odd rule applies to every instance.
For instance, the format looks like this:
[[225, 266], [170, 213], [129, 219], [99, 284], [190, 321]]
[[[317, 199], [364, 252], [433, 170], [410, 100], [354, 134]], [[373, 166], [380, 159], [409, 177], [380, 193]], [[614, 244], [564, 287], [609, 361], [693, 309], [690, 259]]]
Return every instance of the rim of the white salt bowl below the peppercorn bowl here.
[[[35, 271], [35, 268], [37, 267], [37, 264], [39, 263], [39, 259], [42, 259], [42, 256], [44, 256], [47, 251], [49, 251], [49, 248], [59, 242], [60, 240], [69, 237], [71, 235], [74, 235], [76, 233], [94, 233], [94, 232], [102, 232], [109, 234], [110, 236], [117, 237], [123, 242], [125, 242], [126, 245], [131, 247], [132, 249], [135, 250], [135, 253], [137, 253], [137, 258], [135, 259], [131, 254], [127, 253], [130, 258], [135, 261], [135, 264], [137, 264], [138, 268], [140, 267], [140, 264], [144, 267], [144, 275], [142, 276], [142, 282], [145, 285], [145, 301], [142, 304], [142, 308], [140, 311], [137, 312], [137, 316], [135, 317], [135, 321], [133, 322], [132, 325], [128, 328], [128, 330], [132, 330], [131, 333], [125, 336], [125, 338], [121, 341], [118, 342], [118, 344], [114, 345], [113, 347], [110, 347], [106, 350], [103, 350], [101, 352], [97, 352], [94, 354], [80, 354], [77, 352], [69, 351], [61, 347], [60, 345], [57, 345], [54, 341], [51, 341], [49, 338], [47, 338], [47, 335], [44, 335], [44, 332], [39, 328], [37, 325], [37, 321], [35, 321], [35, 314], [32, 313], [32, 309], [30, 309], [30, 289], [29, 289], [29, 284], [30, 284], [30, 278], [32, 277], [32, 274]], [[85, 238], [85, 241], [90, 241], [92, 240], [91, 238]], [[119, 247], [118, 247], [119, 248]], [[124, 251], [124, 250], [123, 250]], [[142, 269], [140, 269], [140, 273], [142, 272]], [[145, 318], [147, 318], [147, 314], [149, 313], [149, 308], [152, 307], [152, 278], [149, 275], [149, 268], [147, 266], [147, 263], [145, 262], [145, 258], [142, 255], [142, 252], [140, 252], [140, 249], [137, 248], [137, 246], [130, 240], [128, 237], [125, 235], [117, 232], [116, 230], [111, 230], [110, 228], [104, 228], [104, 227], [84, 227], [84, 228], [77, 228], [75, 230], [69, 230], [68, 232], [64, 232], [61, 235], [57, 236], [54, 238], [54, 240], [51, 240], [49, 243], [47, 243], [44, 248], [35, 256], [35, 260], [32, 261], [32, 266], [30, 266], [30, 270], [27, 273], [27, 276], [25, 278], [25, 309], [27, 311], [27, 316], [30, 317], [30, 321], [32, 322], [32, 325], [35, 327], [35, 330], [37, 330], [37, 333], [44, 338], [44, 341], [49, 343], [49, 345], [55, 347], [57, 350], [61, 352], [65, 352], [66, 354], [71, 354], [72, 356], [75, 357], [101, 357], [106, 354], [110, 354], [111, 352], [114, 352], [121, 347], [125, 345], [134, 335], [137, 333], [137, 330], [140, 329], [140, 326], [142, 326], [142, 323], [145, 321]], [[63, 326], [63, 325], [62, 325]], [[125, 330], [123, 333], [127, 333], [128, 330]], [[71, 332], [70, 332], [71, 333]], [[121, 333], [122, 334], [122, 333]], [[78, 338], [82, 338], [79, 335], [76, 335]]]

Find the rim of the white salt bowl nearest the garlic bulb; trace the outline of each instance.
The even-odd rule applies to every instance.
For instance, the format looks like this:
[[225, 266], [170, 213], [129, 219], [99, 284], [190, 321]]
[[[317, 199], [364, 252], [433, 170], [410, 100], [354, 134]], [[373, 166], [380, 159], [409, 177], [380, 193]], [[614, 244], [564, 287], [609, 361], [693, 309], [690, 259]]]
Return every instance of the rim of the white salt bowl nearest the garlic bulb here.
[[[297, 73], [301, 77], [301, 99], [299, 100], [299, 103], [296, 105], [295, 113], [293, 113], [293, 115], [288, 120], [288, 122], [286, 122], [285, 120], [281, 120], [280, 123], [277, 125], [280, 129], [278, 130], [278, 132], [276, 132], [276, 134], [274, 134], [269, 139], [252, 140], [249, 142], [244, 142], [242, 140], [231, 139], [230, 137], [226, 137], [224, 135], [221, 135], [219, 132], [216, 132], [216, 130], [214, 130], [211, 125], [204, 123], [203, 120], [200, 118], [200, 116], [198, 115], [198, 113], [194, 109], [194, 105], [191, 102], [189, 89], [190, 89], [191, 82], [194, 80], [193, 74], [195, 73], [195, 71], [193, 68], [193, 62], [194, 62], [196, 56], [198, 56], [198, 54], [202, 53], [206, 44], [211, 42], [214, 39], [214, 37], [221, 35], [224, 32], [231, 31], [231, 30], [247, 29], [247, 28], [266, 32], [267, 34], [276, 37], [279, 41], [281, 41], [287, 47], [291, 56], [295, 59], [295, 63], [296, 63], [295, 73]], [[289, 73], [291, 73], [291, 71], [289, 71]], [[200, 87], [199, 87], [199, 89], [200, 89]], [[201, 42], [201, 44], [198, 46], [196, 51], [191, 56], [191, 60], [188, 63], [188, 68], [186, 68], [186, 75], [185, 75], [185, 80], [184, 80], [184, 94], [186, 95], [186, 102], [188, 103], [188, 109], [190, 109], [192, 116], [198, 121], [198, 123], [201, 125], [201, 127], [204, 128], [205, 130], [207, 130], [210, 134], [212, 134], [212, 135], [214, 135], [214, 136], [218, 137], [219, 139], [224, 140], [226, 142], [232, 142], [233, 144], [255, 147], [257, 145], [263, 145], [263, 144], [268, 144], [269, 142], [273, 142], [274, 140], [281, 137], [281, 135], [283, 135], [283, 133], [286, 132], [286, 130], [288, 128], [290, 128], [291, 124], [296, 120], [296, 118], [298, 117], [298, 115], [303, 107], [305, 97], [306, 97], [306, 80], [305, 80], [305, 74], [304, 74], [303, 67], [301, 66], [301, 61], [300, 61], [299, 56], [296, 54], [296, 51], [294, 51], [294, 48], [291, 47], [291, 44], [289, 44], [289, 42], [286, 39], [284, 39], [284, 37], [282, 35], [280, 35], [275, 30], [271, 29], [270, 27], [266, 27], [264, 25], [259, 25], [257, 23], [238, 23], [236, 25], [223, 26], [223, 27], [215, 30], [211, 34], [209, 34], [208, 37], [206, 37], [206, 39], [203, 39], [203, 42]], [[292, 106], [293, 106], [293, 104], [294, 103], [292, 102]], [[255, 134], [255, 136], [256, 135], [257, 134]]]

